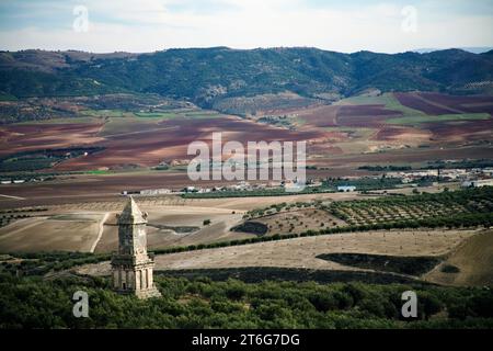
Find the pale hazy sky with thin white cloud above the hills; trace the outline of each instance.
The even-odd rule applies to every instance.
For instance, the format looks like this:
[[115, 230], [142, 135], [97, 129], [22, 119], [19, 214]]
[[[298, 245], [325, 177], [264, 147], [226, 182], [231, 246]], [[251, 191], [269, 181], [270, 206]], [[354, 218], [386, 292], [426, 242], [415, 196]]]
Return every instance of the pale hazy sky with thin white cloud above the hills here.
[[0, 49], [208, 46], [493, 46], [493, 0], [0, 0]]

